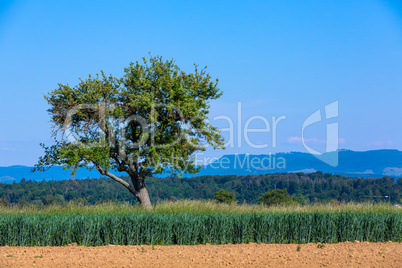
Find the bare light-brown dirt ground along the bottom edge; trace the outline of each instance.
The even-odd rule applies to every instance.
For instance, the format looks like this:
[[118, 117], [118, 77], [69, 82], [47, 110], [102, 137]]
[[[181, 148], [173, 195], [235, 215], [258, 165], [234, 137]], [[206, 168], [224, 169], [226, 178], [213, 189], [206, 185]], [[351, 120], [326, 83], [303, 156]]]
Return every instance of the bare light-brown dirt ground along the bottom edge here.
[[0, 267], [222, 266], [402, 267], [402, 243], [0, 247]]

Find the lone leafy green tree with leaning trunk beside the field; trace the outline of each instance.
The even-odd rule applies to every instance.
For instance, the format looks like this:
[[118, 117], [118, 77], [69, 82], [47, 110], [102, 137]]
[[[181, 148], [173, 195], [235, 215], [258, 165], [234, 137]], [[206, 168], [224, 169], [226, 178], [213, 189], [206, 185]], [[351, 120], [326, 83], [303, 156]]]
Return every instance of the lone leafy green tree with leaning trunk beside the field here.
[[[130, 63], [121, 78], [80, 79], [59, 84], [45, 99], [50, 108], [54, 145], [46, 147], [34, 171], [54, 165], [96, 168], [152, 208], [146, 177], [162, 172], [196, 173], [194, 154], [206, 146], [223, 148], [219, 130], [209, 122], [209, 101], [222, 93], [205, 68], [185, 73], [174, 60], [143, 58]], [[125, 172], [125, 181], [113, 171]]]

